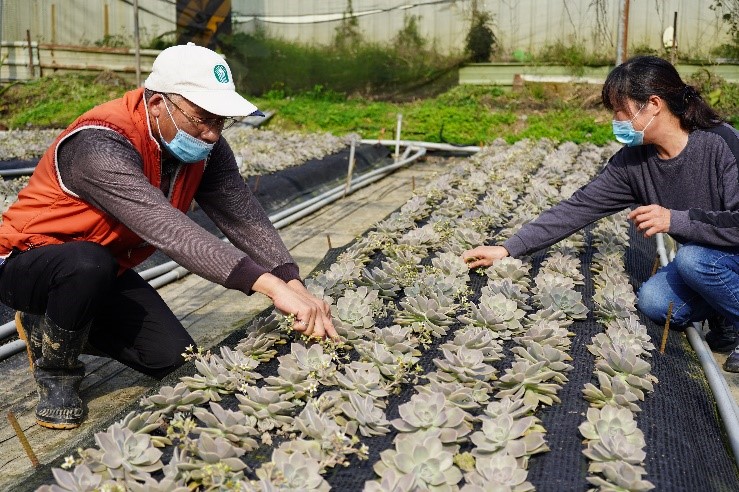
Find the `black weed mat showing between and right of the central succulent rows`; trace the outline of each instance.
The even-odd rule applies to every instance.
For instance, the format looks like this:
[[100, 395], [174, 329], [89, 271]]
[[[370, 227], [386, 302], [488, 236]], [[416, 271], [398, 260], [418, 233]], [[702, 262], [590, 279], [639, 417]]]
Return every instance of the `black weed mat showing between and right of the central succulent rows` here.
[[[631, 246], [627, 251], [626, 266], [635, 286], [638, 286], [651, 273], [655, 257], [654, 242], [637, 236], [632, 231]], [[589, 229], [585, 231], [588, 247], [581, 254], [581, 272], [585, 276], [585, 286], [582, 287], [586, 305], [592, 310], [593, 283], [589, 270], [593, 249], [590, 245]], [[348, 247], [329, 251], [315, 271], [327, 269], [336, 262], [338, 256]], [[533, 257], [532, 278], [536, 275], [538, 266], [544, 255], [539, 253]], [[375, 255], [368, 267], [378, 266], [384, 259], [382, 255]], [[471, 274], [472, 287], [475, 291], [474, 300], [480, 296], [480, 289], [486, 284], [486, 277], [476, 273]], [[259, 316], [266, 316], [272, 310], [267, 309]], [[642, 316], [642, 322], [652, 337], [652, 342], [659, 347], [662, 327], [656, 326]], [[378, 320], [379, 326], [392, 324], [390, 317]], [[424, 373], [435, 370], [432, 360], [439, 356], [438, 345], [453, 338], [454, 331], [459, 327], [455, 324], [449, 334], [442, 339], [436, 339], [428, 350], [423, 350], [420, 365]], [[589, 485], [585, 480], [587, 475], [587, 461], [582, 454], [582, 436], [578, 426], [586, 420], [585, 412], [588, 402], [582, 397], [582, 388], [585, 383], [597, 383], [593, 379], [594, 358], [587, 351], [586, 345], [596, 333], [603, 331], [592, 314], [588, 319], [574, 323], [570, 330], [575, 333], [572, 347], [569, 350], [573, 358], [571, 364], [574, 369], [567, 373], [569, 382], [558, 393], [562, 402], [551, 407], [542, 406], [536, 413], [547, 431], [546, 440], [551, 451], [535, 455], [529, 462], [528, 480], [539, 491], [585, 491]], [[233, 332], [219, 346], [234, 347], [246, 336], [246, 328]], [[505, 344], [505, 359], [495, 364], [498, 374], [502, 374], [509, 367], [513, 356], [510, 348], [513, 342]], [[278, 356], [289, 353], [290, 344], [277, 347]], [[217, 348], [213, 350], [217, 353]], [[647, 470], [646, 479], [655, 485], [656, 491], [736, 491], [739, 490], [739, 472], [728, 446], [722, 423], [717, 415], [715, 401], [708, 387], [705, 375], [696, 359], [695, 353], [688, 345], [685, 336], [679, 332], [670, 332], [664, 354], [655, 351], [651, 358], [652, 374], [659, 382], [655, 385], [655, 392], [647, 394], [644, 402], [640, 402], [642, 409], [636, 415], [639, 428], [643, 431], [647, 443], [647, 458], [644, 464]], [[263, 376], [277, 373], [279, 362], [277, 358], [259, 366]], [[155, 383], [149, 393], [158, 392], [163, 385], [174, 386], [182, 376], [195, 373], [192, 363], [188, 363], [164, 381]], [[421, 380], [423, 384], [425, 380]], [[397, 395], [387, 398], [386, 416], [392, 420], [399, 416], [398, 407], [410, 400], [416, 393], [413, 385], [405, 385]], [[224, 408], [235, 409], [238, 401], [234, 396], [226, 396], [220, 402]], [[118, 415], [108, 420], [100, 430], [122, 419], [128, 412], [140, 410], [133, 403], [123, 409]], [[477, 412], [479, 414], [479, 411]], [[370, 449], [369, 459], [359, 461], [354, 456], [350, 458], [350, 466], [330, 469], [325, 478], [333, 490], [360, 491], [367, 480], [376, 479], [372, 465], [379, 460], [379, 454], [384, 449], [393, 447], [392, 441], [396, 432], [385, 436], [362, 438], [362, 442]], [[280, 439], [275, 439], [272, 446], [261, 445], [258, 449], [243, 456], [244, 461], [252, 469], [270, 459], [272, 449], [279, 445]], [[84, 446], [94, 446], [92, 439]], [[471, 450], [471, 443], [466, 443], [460, 451]], [[72, 450], [67, 450], [70, 454]], [[172, 450], [165, 450], [164, 459], [167, 460]], [[51, 483], [52, 466], [60, 466], [63, 460], [61, 455], [52, 464], [44, 465], [23, 484], [23, 490], [32, 490], [44, 483]]]

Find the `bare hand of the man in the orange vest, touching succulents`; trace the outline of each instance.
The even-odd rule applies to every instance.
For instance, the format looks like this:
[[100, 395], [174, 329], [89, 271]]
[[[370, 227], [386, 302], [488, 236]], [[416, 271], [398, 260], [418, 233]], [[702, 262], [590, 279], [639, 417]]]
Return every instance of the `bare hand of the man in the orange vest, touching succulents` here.
[[252, 289], [272, 299], [278, 310], [295, 315], [295, 331], [316, 338], [326, 335], [338, 338], [328, 304], [308, 292], [299, 280], [286, 284], [271, 273], [265, 273], [254, 282]]

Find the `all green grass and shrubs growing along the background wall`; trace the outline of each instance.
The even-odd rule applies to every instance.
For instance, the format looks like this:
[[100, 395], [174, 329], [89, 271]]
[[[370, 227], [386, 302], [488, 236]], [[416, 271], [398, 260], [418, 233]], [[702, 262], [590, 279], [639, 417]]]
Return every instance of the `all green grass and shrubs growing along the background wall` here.
[[[261, 109], [276, 111], [272, 127], [393, 138], [397, 114], [402, 113], [403, 136], [410, 139], [457, 144], [485, 144], [496, 138], [596, 144], [612, 140], [611, 115], [600, 105], [599, 86], [527, 83], [515, 91], [457, 86], [461, 64], [501, 56], [496, 52], [494, 19], [485, 12], [471, 17], [467, 49], [456, 56], [439, 55], [420, 34], [418, 20], [406, 16], [403, 28], [386, 45], [363, 41], [356, 18], [347, 16], [330, 46], [306, 46], [256, 33], [222, 39], [221, 49], [238, 90]], [[641, 54], [638, 46], [631, 53]], [[577, 40], [516, 57], [565, 64], [573, 73], [586, 65], [609, 63]], [[739, 125], [739, 87], [708, 70], [688, 82]], [[87, 109], [131, 88], [110, 73], [5, 86], [0, 88], [0, 128], [63, 128]]]

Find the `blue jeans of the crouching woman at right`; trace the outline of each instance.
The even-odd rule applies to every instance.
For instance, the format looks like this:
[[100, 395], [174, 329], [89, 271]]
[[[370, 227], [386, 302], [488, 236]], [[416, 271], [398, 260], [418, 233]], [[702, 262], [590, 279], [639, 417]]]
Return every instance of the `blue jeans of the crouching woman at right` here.
[[675, 259], [642, 284], [637, 306], [652, 321], [685, 326], [714, 313], [739, 329], [739, 248], [686, 244]]

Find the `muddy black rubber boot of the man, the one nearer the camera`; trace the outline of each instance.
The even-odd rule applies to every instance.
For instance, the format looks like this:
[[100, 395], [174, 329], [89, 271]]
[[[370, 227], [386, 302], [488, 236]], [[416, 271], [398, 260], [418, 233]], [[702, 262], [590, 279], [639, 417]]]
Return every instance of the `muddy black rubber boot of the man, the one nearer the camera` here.
[[84, 418], [79, 390], [85, 366], [77, 358], [90, 327], [68, 331], [46, 317], [44, 324], [42, 355], [34, 370], [39, 395], [36, 421], [50, 429], [73, 429]]

